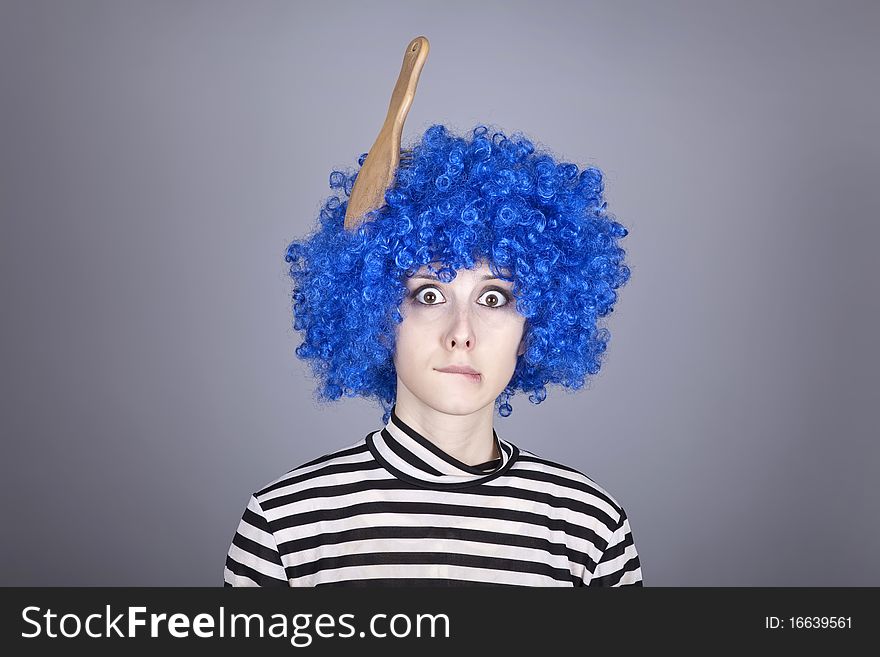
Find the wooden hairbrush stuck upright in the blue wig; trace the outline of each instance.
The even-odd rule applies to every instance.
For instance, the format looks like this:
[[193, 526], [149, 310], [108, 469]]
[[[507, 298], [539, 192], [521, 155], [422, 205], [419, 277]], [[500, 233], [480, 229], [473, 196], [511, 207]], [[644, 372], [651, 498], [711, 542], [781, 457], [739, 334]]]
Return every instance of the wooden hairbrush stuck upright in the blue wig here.
[[397, 167], [401, 163], [406, 166], [411, 159], [411, 151], [400, 150], [400, 138], [403, 122], [416, 95], [419, 74], [428, 58], [428, 50], [428, 40], [423, 36], [416, 37], [406, 47], [385, 123], [367, 153], [348, 199], [344, 223], [346, 230], [354, 230], [363, 223], [365, 215], [385, 204], [385, 192], [394, 180]]

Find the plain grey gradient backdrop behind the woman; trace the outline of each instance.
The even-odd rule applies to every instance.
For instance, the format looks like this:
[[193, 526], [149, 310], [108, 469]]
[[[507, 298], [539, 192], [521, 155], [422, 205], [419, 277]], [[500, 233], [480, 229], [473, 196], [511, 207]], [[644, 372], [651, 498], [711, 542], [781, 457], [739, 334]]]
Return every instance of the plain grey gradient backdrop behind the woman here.
[[606, 174], [602, 372], [504, 438], [627, 509], [646, 586], [880, 585], [876, 2], [0, 4], [3, 585], [221, 585], [248, 496], [381, 426], [293, 351], [288, 242], [405, 140]]

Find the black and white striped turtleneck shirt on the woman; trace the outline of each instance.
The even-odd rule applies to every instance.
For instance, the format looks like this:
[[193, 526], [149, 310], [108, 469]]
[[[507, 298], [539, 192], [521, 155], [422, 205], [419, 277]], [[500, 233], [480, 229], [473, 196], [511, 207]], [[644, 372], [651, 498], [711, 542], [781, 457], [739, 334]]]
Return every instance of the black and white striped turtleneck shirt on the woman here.
[[642, 586], [615, 499], [492, 433], [501, 457], [470, 466], [392, 409], [251, 496], [225, 586]]

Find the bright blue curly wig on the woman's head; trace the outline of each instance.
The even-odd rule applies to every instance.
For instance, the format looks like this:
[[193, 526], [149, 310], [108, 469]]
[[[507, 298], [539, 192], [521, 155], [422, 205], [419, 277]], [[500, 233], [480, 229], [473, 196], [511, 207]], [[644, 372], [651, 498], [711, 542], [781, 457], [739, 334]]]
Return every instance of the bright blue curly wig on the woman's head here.
[[480, 260], [514, 282], [526, 318], [526, 351], [495, 401], [499, 414], [511, 414], [517, 390], [539, 404], [549, 383], [582, 388], [611, 337], [598, 319], [613, 312], [615, 290], [630, 276], [618, 245], [627, 230], [605, 210], [602, 172], [557, 162], [521, 133], [508, 138], [484, 125], [469, 139], [432, 125], [411, 150], [385, 205], [355, 230], [343, 221], [357, 172], [333, 171], [330, 188], [339, 191], [324, 202], [319, 225], [287, 248], [293, 327], [303, 335], [296, 354], [320, 382], [316, 401], [377, 398], [387, 423], [404, 277], [424, 265], [448, 283]]

